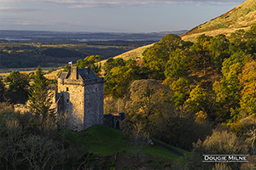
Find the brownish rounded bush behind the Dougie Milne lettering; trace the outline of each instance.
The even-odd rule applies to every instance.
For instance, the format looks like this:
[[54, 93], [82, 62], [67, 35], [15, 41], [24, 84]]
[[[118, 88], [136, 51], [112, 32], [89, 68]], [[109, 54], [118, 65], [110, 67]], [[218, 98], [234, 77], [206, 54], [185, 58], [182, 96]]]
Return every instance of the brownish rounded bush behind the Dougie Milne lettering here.
[[[194, 149], [189, 156], [188, 166], [191, 169], [209, 169], [214, 166], [213, 163], [203, 163], [202, 155], [246, 155], [248, 145], [236, 136], [236, 133], [230, 133], [226, 130], [213, 130], [211, 136], [207, 136], [204, 142], [199, 140], [194, 143]], [[237, 169], [240, 163], [233, 163], [231, 167]]]

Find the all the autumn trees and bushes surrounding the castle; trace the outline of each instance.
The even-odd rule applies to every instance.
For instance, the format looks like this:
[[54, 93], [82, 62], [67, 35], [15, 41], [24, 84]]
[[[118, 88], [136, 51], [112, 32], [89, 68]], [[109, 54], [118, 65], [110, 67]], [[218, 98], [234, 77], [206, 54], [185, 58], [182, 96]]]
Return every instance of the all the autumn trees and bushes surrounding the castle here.
[[[104, 65], [98, 65], [102, 56], [90, 55], [79, 59], [75, 65], [79, 68], [90, 66], [97, 76], [105, 78], [104, 112], [125, 111], [125, 121], [121, 123], [124, 133], [139, 136], [142, 139], [140, 143], [152, 138], [160, 139], [190, 152], [185, 162], [172, 161], [173, 167], [166, 169], [255, 169], [255, 46], [256, 26], [252, 26], [249, 31], [231, 33], [230, 37], [222, 34], [209, 37], [203, 34], [195, 42], [183, 41], [177, 35], [167, 34], [143, 52], [142, 60], [109, 58]], [[63, 69], [70, 71], [70, 66], [66, 65]], [[29, 83], [31, 80], [32, 88]], [[45, 82], [42, 82], [45, 88], [37, 87], [40, 81]], [[52, 162], [45, 150], [42, 159], [50, 161], [42, 161], [28, 157], [31, 155], [26, 152], [32, 150], [28, 145], [34, 144], [33, 140], [43, 139], [50, 142], [49, 146], [70, 149], [63, 145], [65, 142], [58, 143], [62, 145], [55, 142], [64, 140], [46, 135], [49, 129], [47, 123], [52, 117], [47, 109], [50, 101], [45, 98], [47, 102], [40, 104], [41, 107], [32, 103], [32, 109], [38, 106], [41, 108], [36, 110], [35, 117], [29, 115], [31, 117], [26, 118], [26, 114], [17, 116], [7, 109], [12, 95], [21, 96], [20, 100], [23, 101], [28, 98], [32, 101], [42, 99], [33, 99], [33, 96], [47, 94], [47, 90], [37, 95], [35, 93], [40, 89], [54, 88], [56, 82], [44, 79], [39, 67], [38, 72], [31, 75], [13, 71], [4, 83], [9, 88], [0, 82], [3, 110], [0, 112], [0, 147], [3, 150], [3, 141], [8, 139], [15, 142], [5, 148], [6, 152], [1, 152], [3, 167], [17, 167], [18, 163], [24, 165], [24, 162], [29, 162], [29, 167], [40, 169], [40, 166], [36, 166], [41, 165], [39, 162], [45, 162], [46, 169], [61, 165], [63, 169], [65, 163], [61, 161], [68, 158], [62, 157]], [[37, 117], [41, 121], [39, 125], [37, 121], [33, 122]], [[28, 120], [29, 123], [24, 122]], [[60, 133], [63, 132], [62, 128], [61, 124]], [[9, 134], [12, 134], [12, 138]], [[21, 151], [16, 153], [15, 147]], [[249, 155], [249, 161], [203, 163], [202, 155], [205, 154]]]

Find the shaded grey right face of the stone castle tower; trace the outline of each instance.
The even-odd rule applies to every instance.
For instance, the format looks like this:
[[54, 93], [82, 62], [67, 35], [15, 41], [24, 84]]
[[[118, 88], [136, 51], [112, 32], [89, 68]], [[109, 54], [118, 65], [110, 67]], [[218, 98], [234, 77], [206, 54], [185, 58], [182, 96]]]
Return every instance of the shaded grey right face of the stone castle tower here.
[[85, 82], [84, 129], [92, 125], [103, 124], [103, 79], [96, 79], [94, 84]]

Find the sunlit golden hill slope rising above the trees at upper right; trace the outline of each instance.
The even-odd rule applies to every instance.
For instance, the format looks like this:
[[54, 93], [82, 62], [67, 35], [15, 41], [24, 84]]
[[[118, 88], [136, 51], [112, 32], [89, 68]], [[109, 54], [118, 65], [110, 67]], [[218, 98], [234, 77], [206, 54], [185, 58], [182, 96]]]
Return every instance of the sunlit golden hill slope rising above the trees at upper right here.
[[243, 29], [249, 30], [251, 26], [256, 25], [256, 0], [247, 0], [236, 8], [232, 8], [229, 12], [218, 16], [200, 26], [196, 26], [192, 30], [186, 32], [181, 37], [183, 40], [195, 41], [195, 38], [201, 34], [207, 36], [216, 36], [230, 33]]

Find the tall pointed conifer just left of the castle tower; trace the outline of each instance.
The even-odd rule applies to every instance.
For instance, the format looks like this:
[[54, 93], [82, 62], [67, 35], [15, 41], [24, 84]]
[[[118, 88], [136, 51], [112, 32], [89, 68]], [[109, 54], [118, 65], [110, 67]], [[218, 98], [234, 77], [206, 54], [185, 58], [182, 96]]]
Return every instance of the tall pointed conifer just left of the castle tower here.
[[52, 97], [49, 82], [39, 65], [35, 72], [32, 90], [29, 92], [29, 107], [37, 116], [43, 116], [43, 120], [47, 116], [54, 116], [55, 108], [51, 108]]

